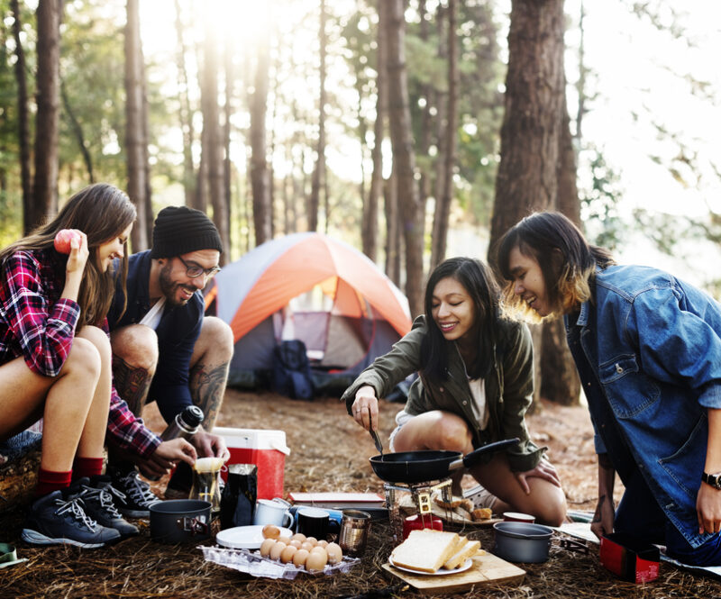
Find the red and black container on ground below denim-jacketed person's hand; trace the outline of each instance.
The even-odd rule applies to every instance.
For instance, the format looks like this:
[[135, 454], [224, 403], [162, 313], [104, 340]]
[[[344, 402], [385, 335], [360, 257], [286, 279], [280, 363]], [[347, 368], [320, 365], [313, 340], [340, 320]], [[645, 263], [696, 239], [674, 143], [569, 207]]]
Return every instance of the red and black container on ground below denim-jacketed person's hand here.
[[647, 583], [659, 576], [659, 548], [631, 535], [612, 532], [601, 537], [601, 566], [632, 583]]

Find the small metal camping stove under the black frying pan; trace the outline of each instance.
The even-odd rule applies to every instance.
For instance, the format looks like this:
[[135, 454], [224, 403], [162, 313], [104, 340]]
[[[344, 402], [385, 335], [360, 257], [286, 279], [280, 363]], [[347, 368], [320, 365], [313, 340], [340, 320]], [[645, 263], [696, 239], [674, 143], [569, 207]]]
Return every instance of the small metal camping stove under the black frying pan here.
[[418, 514], [418, 518], [424, 522], [424, 528], [432, 528], [433, 495], [440, 493], [444, 502], [450, 502], [451, 484], [450, 478], [415, 484], [384, 483], [383, 489], [386, 492], [386, 507], [393, 539], [397, 542], [403, 540], [403, 521], [407, 516], [414, 514]]

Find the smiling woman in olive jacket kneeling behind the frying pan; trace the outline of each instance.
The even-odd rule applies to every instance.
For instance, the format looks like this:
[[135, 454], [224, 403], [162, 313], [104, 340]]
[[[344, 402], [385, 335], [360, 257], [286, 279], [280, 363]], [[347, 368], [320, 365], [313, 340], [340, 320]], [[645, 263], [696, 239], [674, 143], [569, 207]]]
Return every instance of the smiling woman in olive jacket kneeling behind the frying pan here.
[[[524, 420], [534, 389], [531, 335], [524, 324], [499, 316], [498, 297], [495, 279], [479, 260], [445, 260], [428, 279], [425, 315], [360, 373], [342, 401], [360, 426], [377, 430], [378, 398], [417, 371], [390, 449], [467, 454], [517, 437], [515, 446], [469, 472], [497, 496], [494, 512], [512, 509], [560, 525], [566, 513], [561, 482]], [[461, 495], [461, 476], [454, 477], [452, 491]]]

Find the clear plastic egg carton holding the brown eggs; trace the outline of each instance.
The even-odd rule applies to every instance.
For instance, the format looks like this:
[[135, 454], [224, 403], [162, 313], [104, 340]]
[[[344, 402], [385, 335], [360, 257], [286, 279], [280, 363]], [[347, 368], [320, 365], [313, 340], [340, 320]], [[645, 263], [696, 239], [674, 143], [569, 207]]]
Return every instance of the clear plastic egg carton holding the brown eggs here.
[[228, 549], [225, 547], [199, 546], [197, 549], [203, 551], [205, 561], [211, 561], [220, 566], [231, 567], [233, 570], [245, 572], [251, 576], [263, 578], [284, 578], [293, 580], [298, 574], [309, 574], [311, 576], [332, 576], [340, 572], [349, 572], [351, 567], [360, 563], [360, 558], [342, 558], [342, 561], [333, 566], [326, 566], [323, 570], [308, 572], [305, 567], [297, 567], [293, 564], [283, 564], [275, 559], [264, 558], [260, 551], [249, 549]]

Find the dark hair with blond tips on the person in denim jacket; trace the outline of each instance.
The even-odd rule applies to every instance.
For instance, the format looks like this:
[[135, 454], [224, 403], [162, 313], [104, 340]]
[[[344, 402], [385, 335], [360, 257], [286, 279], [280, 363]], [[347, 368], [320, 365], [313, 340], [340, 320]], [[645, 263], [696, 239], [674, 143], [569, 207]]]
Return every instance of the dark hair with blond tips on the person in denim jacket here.
[[538, 262], [543, 273], [553, 313], [567, 313], [571, 307], [590, 299], [589, 282], [596, 267], [615, 264], [611, 252], [589, 244], [579, 228], [568, 217], [556, 212], [533, 213], [509, 229], [498, 245], [497, 265], [508, 283], [504, 302], [516, 312], [527, 312], [527, 306], [514, 294], [509, 257], [514, 248]]

